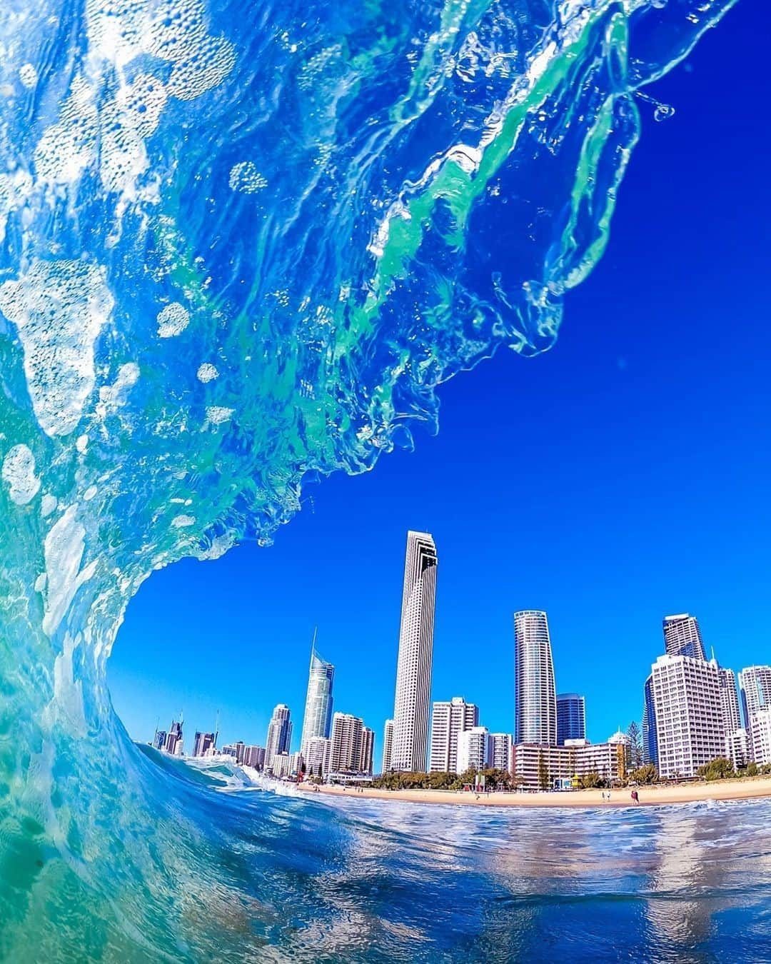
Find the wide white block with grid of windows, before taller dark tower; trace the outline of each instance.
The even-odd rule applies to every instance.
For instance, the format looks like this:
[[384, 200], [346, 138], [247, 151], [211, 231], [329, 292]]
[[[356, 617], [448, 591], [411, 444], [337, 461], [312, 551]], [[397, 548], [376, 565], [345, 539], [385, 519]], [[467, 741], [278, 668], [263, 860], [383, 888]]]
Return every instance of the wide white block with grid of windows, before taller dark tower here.
[[651, 669], [658, 772], [692, 778], [726, 752], [716, 663], [694, 656], [659, 656]]

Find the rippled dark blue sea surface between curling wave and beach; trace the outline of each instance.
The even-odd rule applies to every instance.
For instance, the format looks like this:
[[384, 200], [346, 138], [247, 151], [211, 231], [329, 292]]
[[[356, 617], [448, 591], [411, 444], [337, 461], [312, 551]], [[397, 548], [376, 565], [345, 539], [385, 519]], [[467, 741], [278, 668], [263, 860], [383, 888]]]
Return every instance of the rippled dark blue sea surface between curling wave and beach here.
[[228, 871], [210, 893], [168, 896], [187, 934], [180, 947], [170, 933], [173, 959], [771, 961], [771, 800], [316, 799], [146, 752]]

